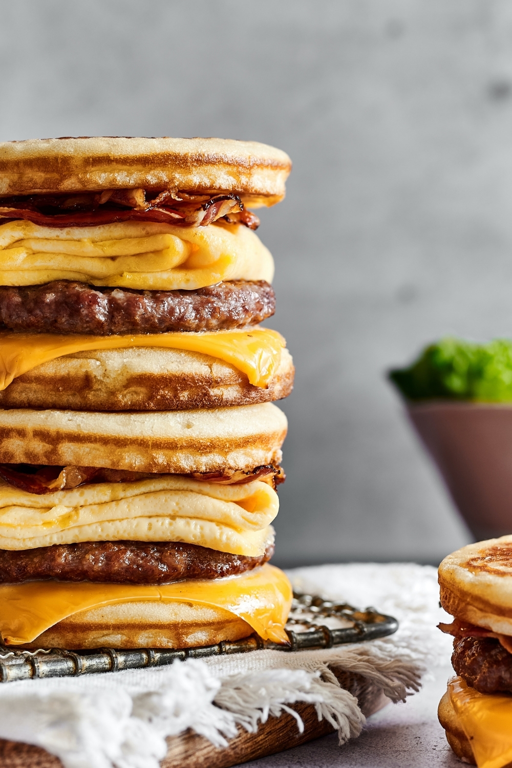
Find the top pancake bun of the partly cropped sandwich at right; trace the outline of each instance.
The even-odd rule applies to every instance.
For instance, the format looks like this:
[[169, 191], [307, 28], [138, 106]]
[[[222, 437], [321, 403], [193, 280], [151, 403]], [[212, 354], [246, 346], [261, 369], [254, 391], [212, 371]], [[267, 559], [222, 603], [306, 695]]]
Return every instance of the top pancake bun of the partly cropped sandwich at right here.
[[439, 566], [439, 584], [449, 614], [512, 635], [512, 535], [449, 554]]

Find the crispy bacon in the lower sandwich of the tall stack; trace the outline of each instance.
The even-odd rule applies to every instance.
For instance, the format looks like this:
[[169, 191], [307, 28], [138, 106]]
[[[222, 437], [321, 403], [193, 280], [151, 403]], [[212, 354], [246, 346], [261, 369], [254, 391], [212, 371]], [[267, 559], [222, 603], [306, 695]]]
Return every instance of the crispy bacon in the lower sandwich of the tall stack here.
[[[86, 482], [134, 482], [162, 477], [151, 472], [130, 472], [124, 469], [107, 469], [104, 467], [54, 467], [31, 464], [0, 464], [0, 478], [14, 488], [38, 495], [63, 491], [68, 488], [78, 488]], [[271, 464], [255, 467], [249, 472], [196, 472], [191, 475], [194, 480], [203, 482], [218, 482], [224, 485], [242, 485], [253, 480], [263, 480], [276, 488], [285, 482], [286, 475], [281, 467]]]

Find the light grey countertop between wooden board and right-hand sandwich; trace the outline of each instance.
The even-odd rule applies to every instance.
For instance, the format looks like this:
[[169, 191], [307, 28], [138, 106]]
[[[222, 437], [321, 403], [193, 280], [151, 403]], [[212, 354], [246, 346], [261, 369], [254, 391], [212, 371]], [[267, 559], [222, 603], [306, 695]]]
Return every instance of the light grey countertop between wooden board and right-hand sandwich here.
[[406, 703], [388, 704], [368, 718], [358, 739], [338, 746], [335, 733], [292, 750], [253, 760], [254, 768], [461, 768], [438, 722], [437, 710], [446, 691], [451, 666], [438, 667], [419, 694]]

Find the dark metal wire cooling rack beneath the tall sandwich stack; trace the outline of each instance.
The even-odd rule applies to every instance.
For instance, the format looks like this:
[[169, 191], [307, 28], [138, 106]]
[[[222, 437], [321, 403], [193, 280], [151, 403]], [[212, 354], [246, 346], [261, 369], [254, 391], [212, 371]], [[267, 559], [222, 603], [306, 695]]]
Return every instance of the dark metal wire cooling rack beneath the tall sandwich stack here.
[[[322, 622], [322, 623], [321, 623]], [[314, 648], [331, 648], [386, 637], [398, 629], [398, 621], [375, 608], [358, 611], [348, 603], [335, 603], [317, 595], [294, 592], [286, 634], [289, 644], [262, 640], [256, 634], [235, 642], [223, 641], [180, 650], [137, 648], [116, 650], [15, 650], [0, 645], [0, 682], [35, 677], [77, 677], [81, 674], [162, 667], [180, 659], [200, 659], [223, 654], [246, 654], [270, 648], [289, 653]]]

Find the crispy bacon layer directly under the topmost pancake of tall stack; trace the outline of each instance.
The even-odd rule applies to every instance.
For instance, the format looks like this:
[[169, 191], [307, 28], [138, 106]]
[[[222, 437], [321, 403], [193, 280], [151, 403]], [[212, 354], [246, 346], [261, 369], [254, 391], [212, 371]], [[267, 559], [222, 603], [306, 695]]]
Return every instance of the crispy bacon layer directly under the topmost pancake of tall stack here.
[[146, 200], [143, 189], [105, 190], [101, 194], [31, 195], [0, 198], [0, 220], [25, 219], [41, 227], [93, 227], [119, 221], [153, 221], [175, 227], [207, 227], [218, 219], [256, 230], [259, 219], [243, 208], [236, 194], [187, 195], [168, 191]]

